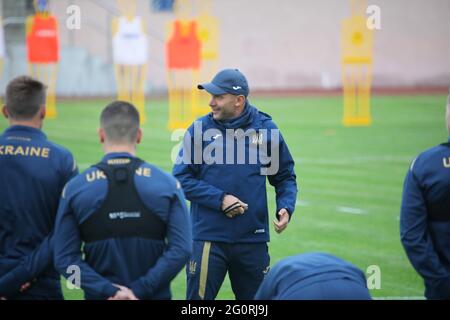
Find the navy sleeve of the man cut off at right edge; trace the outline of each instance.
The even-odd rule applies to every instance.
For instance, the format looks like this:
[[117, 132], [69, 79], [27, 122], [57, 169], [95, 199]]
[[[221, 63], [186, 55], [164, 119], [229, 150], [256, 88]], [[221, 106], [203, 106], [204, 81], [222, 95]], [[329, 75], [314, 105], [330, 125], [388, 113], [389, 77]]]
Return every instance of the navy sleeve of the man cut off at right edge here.
[[[417, 160], [416, 160], [417, 162]], [[427, 228], [427, 207], [414, 163], [408, 171], [400, 212], [400, 237], [406, 254], [416, 271], [427, 279], [448, 277]]]

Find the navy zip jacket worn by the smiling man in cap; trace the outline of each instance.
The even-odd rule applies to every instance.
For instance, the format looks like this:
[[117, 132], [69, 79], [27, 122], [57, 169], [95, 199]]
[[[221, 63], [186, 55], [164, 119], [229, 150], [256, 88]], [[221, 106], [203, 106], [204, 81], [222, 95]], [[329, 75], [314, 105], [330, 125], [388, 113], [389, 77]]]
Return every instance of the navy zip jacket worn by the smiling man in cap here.
[[[205, 133], [200, 140], [196, 134], [199, 127]], [[238, 161], [242, 145], [244, 164]], [[297, 197], [294, 160], [269, 115], [247, 102], [236, 119], [219, 122], [209, 113], [188, 128], [173, 174], [191, 202], [194, 240], [269, 241], [266, 175], [261, 171], [274, 165], [273, 157], [269, 162], [272, 152], [279, 155], [278, 170], [267, 175], [275, 187], [276, 210], [286, 208], [292, 216]], [[251, 162], [255, 154], [257, 161]], [[221, 212], [225, 194], [247, 203], [248, 210], [233, 219], [226, 217]]]

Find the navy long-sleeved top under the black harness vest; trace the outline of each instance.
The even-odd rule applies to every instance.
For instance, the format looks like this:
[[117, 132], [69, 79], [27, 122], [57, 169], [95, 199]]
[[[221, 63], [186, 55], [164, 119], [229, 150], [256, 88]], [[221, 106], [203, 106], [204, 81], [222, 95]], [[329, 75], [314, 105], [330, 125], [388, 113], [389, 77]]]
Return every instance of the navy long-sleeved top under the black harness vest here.
[[[102, 163], [130, 158], [128, 153], [109, 153]], [[93, 166], [64, 189], [54, 235], [55, 264], [66, 278], [74, 274], [71, 266], [80, 269], [86, 299], [113, 296], [117, 292], [113, 284], [130, 288], [139, 299], [170, 299], [170, 281], [192, 252], [189, 214], [176, 179], [143, 163], [134, 184], [142, 203], [166, 224], [165, 240], [117, 236], [82, 247], [80, 226], [101, 208], [108, 180]], [[114, 214], [122, 219], [120, 212]]]

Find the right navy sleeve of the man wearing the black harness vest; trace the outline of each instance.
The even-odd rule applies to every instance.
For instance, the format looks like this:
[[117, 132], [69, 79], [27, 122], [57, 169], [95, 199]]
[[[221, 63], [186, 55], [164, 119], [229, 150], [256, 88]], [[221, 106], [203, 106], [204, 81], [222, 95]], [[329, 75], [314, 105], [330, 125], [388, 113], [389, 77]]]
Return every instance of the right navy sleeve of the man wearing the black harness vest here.
[[178, 182], [175, 188], [168, 215], [167, 249], [145, 276], [130, 285], [130, 289], [140, 299], [151, 299], [162, 284], [175, 278], [192, 253], [191, 223], [186, 200]]

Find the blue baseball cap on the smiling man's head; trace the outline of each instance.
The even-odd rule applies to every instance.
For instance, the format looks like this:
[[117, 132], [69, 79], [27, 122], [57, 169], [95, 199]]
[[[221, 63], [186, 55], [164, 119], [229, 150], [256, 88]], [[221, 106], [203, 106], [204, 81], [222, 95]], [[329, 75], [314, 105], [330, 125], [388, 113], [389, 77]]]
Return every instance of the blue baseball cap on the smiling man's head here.
[[210, 83], [199, 84], [197, 88], [214, 95], [230, 93], [247, 97], [249, 92], [247, 79], [238, 69], [224, 69]]

